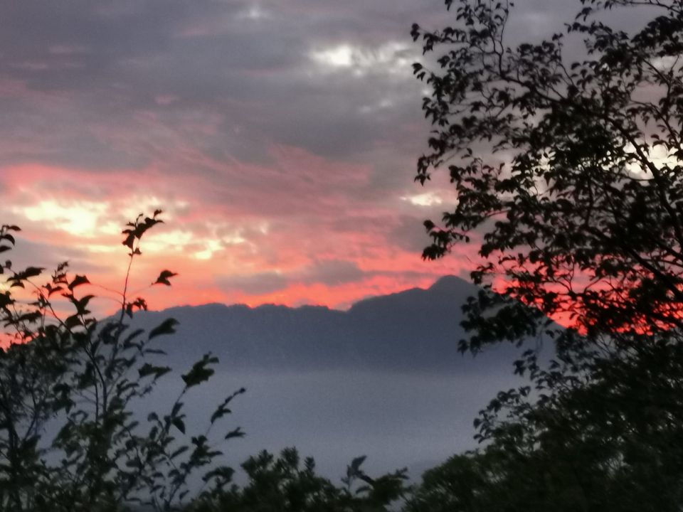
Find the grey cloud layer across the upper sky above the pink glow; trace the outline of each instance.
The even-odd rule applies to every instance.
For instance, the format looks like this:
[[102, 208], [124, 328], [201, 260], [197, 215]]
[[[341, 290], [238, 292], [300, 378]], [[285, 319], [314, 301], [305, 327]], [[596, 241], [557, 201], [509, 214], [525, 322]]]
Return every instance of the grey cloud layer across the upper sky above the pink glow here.
[[[410, 25], [454, 21], [443, 0], [279, 0], [260, 4], [262, 17], [245, 17], [255, 5], [5, 2], [0, 164], [38, 161], [100, 171], [155, 161], [164, 172], [184, 173], [191, 162], [169, 159], [177, 140], [216, 161], [263, 165], [272, 163], [270, 146], [285, 144], [369, 164], [370, 181], [353, 191], [356, 201], [376, 201], [409, 183], [428, 135], [422, 86], [409, 65], [420, 53]], [[508, 33], [515, 41], [561, 28], [579, 7], [578, 1], [520, 2]], [[353, 67], [326, 69], [309, 55], [344, 43], [373, 55], [396, 42], [408, 47], [388, 57], [394, 65], [406, 60], [398, 73], [385, 63], [356, 76]], [[1, 80], [27, 90], [3, 95]], [[201, 132], [196, 124], [211, 116], [222, 119]]]

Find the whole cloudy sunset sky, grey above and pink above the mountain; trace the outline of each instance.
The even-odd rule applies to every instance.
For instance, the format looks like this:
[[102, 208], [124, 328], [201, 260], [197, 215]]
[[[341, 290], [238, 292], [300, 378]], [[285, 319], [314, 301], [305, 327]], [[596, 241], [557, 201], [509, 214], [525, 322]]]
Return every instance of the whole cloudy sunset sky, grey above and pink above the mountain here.
[[[577, 2], [520, 0], [511, 38]], [[0, 222], [16, 266], [68, 260], [120, 289], [120, 231], [164, 210], [132, 290], [152, 309], [223, 302], [344, 309], [466, 277], [476, 247], [420, 255], [455, 197], [422, 187], [425, 86], [411, 24], [443, 0], [115, 0], [0, 6]], [[174, 287], [148, 289], [159, 270]]]

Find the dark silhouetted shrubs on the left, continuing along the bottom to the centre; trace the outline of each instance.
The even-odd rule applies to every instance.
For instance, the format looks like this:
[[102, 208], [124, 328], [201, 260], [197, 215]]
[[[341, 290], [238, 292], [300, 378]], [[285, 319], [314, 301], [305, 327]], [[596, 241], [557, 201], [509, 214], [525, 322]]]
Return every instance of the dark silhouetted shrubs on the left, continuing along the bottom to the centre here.
[[[139, 215], [123, 231], [129, 262], [120, 311], [104, 320], [88, 309], [95, 297], [80, 293], [92, 289], [88, 277], [69, 274], [66, 263], [42, 285], [43, 268], [2, 265], [0, 510], [386, 511], [406, 491], [406, 471], [372, 479], [361, 469], [364, 457], [351, 462], [344, 486], [334, 486], [315, 474], [312, 459], [302, 465], [295, 449], [277, 459], [262, 452], [242, 464], [248, 484], [235, 486], [233, 469], [220, 464], [221, 447], [243, 432], [223, 422], [245, 390], [219, 402], [197, 432], [184, 413], [184, 400], [214, 373], [211, 353], [186, 368], [169, 410], [133, 412], [136, 404], [153, 407], [155, 388], [172, 376], [158, 342], [177, 322], [134, 328], [134, 312], [147, 303], [128, 294], [140, 240], [162, 222], [160, 213]], [[14, 247], [18, 231], [0, 227], [1, 252]], [[152, 286], [170, 286], [175, 275], [162, 270]], [[65, 308], [70, 313], [60, 314]]]

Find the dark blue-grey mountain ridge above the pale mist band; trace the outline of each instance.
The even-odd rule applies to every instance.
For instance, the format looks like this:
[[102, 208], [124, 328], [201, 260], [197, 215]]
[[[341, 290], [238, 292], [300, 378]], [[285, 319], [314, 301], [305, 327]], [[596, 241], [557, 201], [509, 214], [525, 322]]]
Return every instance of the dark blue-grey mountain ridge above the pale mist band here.
[[[448, 276], [429, 289], [361, 300], [348, 311], [206, 304], [142, 313], [136, 324], [149, 329], [169, 316], [180, 322], [163, 341], [171, 362], [211, 351], [223, 368], [465, 371], [471, 356], [457, 351], [460, 307], [476, 293], [474, 284]], [[493, 352], [483, 357], [487, 364], [506, 368], [519, 353], [508, 346]]]

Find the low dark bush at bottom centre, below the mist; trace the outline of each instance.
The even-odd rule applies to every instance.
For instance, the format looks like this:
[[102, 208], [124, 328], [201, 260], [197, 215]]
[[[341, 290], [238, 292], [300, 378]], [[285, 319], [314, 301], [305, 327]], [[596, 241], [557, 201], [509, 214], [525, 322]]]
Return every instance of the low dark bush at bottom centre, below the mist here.
[[[277, 459], [268, 452], [250, 457], [242, 467], [249, 481], [243, 487], [208, 493], [191, 512], [386, 512], [407, 491], [406, 470], [373, 479], [361, 470], [365, 457], [347, 469], [338, 487], [315, 473], [308, 457], [301, 462], [296, 449], [282, 450]], [[361, 481], [363, 485], [356, 486]]]

